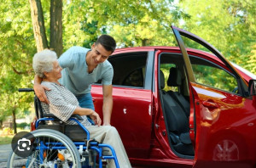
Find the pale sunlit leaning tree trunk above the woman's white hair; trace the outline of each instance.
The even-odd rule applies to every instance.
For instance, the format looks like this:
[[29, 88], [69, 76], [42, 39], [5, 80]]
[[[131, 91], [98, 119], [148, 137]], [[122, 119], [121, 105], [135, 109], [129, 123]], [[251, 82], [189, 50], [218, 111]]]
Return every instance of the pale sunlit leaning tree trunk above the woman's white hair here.
[[47, 37], [44, 28], [44, 14], [40, 0], [29, 0], [34, 36], [38, 52], [48, 48]]

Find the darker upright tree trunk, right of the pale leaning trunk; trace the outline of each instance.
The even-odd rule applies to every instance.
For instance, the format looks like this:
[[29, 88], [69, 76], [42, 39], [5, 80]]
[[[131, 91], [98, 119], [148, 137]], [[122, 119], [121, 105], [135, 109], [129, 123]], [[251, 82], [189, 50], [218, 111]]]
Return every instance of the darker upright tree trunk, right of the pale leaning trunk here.
[[49, 48], [61, 55], [62, 47], [62, 0], [50, 0], [50, 41]]

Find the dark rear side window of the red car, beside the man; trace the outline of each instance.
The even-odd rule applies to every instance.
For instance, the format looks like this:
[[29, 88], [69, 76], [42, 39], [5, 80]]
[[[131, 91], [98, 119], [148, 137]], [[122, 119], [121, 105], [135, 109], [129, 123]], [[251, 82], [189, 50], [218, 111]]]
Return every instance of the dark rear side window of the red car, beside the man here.
[[144, 87], [148, 53], [125, 53], [111, 56], [113, 85], [122, 87]]

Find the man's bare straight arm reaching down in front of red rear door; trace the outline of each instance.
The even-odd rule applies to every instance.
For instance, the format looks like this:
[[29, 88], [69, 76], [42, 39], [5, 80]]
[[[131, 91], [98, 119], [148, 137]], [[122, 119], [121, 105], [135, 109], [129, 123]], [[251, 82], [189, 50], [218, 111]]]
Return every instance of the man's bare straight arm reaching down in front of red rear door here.
[[110, 126], [113, 98], [112, 98], [112, 85], [102, 85], [103, 92], [103, 126]]

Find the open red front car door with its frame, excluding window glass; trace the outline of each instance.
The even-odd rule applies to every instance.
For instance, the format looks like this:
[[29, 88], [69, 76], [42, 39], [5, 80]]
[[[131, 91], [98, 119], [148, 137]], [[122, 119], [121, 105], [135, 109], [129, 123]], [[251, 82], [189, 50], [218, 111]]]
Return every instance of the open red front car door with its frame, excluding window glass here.
[[[247, 148], [253, 145], [256, 137], [247, 134], [255, 130], [255, 106], [247, 95], [247, 82], [233, 69], [215, 48], [189, 32], [172, 26], [178, 45], [183, 53], [184, 64], [189, 77], [190, 100], [195, 101], [194, 116], [190, 116], [190, 137], [195, 133], [195, 165], [194, 167], [216, 167], [224, 165], [248, 165], [244, 159], [253, 153]], [[181, 35], [199, 42], [217, 55], [227, 71], [236, 78], [238, 93], [226, 92], [196, 82], [189, 55]], [[193, 124], [192, 124], [193, 123]], [[249, 126], [248, 126], [249, 125]], [[253, 154], [255, 157], [255, 154]]]

